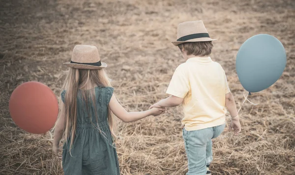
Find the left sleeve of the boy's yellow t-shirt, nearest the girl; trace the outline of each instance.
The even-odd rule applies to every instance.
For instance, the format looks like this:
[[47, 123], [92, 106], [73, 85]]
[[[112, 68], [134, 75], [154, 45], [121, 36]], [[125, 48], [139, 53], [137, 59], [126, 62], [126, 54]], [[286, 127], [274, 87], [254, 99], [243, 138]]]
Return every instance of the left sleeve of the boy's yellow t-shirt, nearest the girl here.
[[175, 70], [168, 89], [167, 94], [184, 98], [190, 89], [188, 75], [185, 74], [182, 66], [178, 66]]

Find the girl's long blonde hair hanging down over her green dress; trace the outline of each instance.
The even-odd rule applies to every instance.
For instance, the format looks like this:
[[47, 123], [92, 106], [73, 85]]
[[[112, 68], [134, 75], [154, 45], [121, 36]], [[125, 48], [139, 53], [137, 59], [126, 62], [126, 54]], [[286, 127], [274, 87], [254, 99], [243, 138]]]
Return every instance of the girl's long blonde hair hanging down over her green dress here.
[[[104, 71], [104, 69], [98, 70], [84, 70], [84, 69], [75, 69], [70, 68], [69, 72], [66, 76], [65, 82], [62, 86], [63, 90], [66, 90], [65, 93], [65, 104], [60, 108], [60, 115], [64, 115], [64, 138], [66, 143], [68, 142], [68, 138], [71, 137], [70, 149], [72, 148], [74, 138], [76, 135], [76, 125], [77, 125], [77, 94], [79, 90], [79, 86], [86, 85], [90, 81], [92, 85], [99, 87], [111, 87], [111, 82], [109, 80], [108, 75]], [[80, 87], [81, 88], [81, 87]], [[87, 101], [86, 96], [91, 96], [92, 101], [95, 105], [95, 91], [91, 89], [90, 94], [86, 94], [86, 91], [82, 91], [82, 97]], [[95, 110], [96, 112], [96, 110]], [[96, 114], [96, 122], [97, 120]], [[91, 121], [91, 116], [90, 116]], [[92, 122], [91, 122], [92, 123]], [[108, 123], [110, 126], [111, 134], [113, 141], [116, 139], [116, 122], [113, 118], [112, 111], [110, 107], [108, 107]], [[99, 129], [98, 125], [97, 128]], [[99, 129], [100, 130], [100, 129]], [[101, 130], [100, 130], [101, 131]], [[68, 143], [67, 143], [68, 144]]]

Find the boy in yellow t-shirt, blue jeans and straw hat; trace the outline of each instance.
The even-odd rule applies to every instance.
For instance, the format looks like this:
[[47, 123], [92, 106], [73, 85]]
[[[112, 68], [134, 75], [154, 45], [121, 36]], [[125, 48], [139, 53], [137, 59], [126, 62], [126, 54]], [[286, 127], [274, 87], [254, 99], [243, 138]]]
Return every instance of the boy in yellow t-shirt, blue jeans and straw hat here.
[[150, 106], [175, 107], [182, 104], [182, 136], [188, 159], [186, 175], [210, 175], [212, 141], [225, 127], [226, 108], [232, 116], [230, 130], [241, 131], [234, 97], [220, 64], [209, 57], [213, 48], [203, 21], [180, 23], [178, 46], [185, 63], [179, 65], [171, 79], [167, 99]]

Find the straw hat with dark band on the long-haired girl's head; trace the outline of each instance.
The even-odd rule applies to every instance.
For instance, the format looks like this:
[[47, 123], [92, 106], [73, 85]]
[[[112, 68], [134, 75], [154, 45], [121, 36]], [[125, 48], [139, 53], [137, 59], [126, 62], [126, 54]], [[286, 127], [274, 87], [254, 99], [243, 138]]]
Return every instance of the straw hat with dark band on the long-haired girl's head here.
[[102, 69], [108, 66], [100, 62], [97, 48], [89, 45], [76, 45], [72, 51], [71, 62], [63, 64], [76, 69]]

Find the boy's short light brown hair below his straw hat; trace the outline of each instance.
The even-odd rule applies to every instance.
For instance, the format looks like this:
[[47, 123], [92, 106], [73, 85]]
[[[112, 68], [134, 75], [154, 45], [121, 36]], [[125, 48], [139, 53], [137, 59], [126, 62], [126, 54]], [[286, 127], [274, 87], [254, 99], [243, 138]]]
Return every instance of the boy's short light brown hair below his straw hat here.
[[211, 54], [213, 44], [212, 41], [188, 42], [179, 44], [178, 48], [181, 52], [183, 49], [187, 55], [208, 56]]

